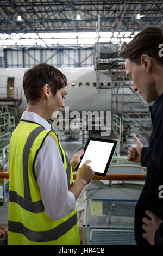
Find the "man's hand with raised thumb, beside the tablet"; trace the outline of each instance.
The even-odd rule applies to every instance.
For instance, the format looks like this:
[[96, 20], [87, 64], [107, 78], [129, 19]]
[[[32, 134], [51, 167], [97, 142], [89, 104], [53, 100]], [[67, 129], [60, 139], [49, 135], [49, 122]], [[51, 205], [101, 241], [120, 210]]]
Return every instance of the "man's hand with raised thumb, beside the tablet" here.
[[136, 147], [130, 147], [127, 152], [127, 160], [135, 163], [140, 163], [141, 149], [143, 147], [139, 139], [134, 135]]

